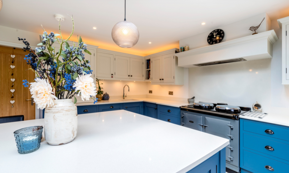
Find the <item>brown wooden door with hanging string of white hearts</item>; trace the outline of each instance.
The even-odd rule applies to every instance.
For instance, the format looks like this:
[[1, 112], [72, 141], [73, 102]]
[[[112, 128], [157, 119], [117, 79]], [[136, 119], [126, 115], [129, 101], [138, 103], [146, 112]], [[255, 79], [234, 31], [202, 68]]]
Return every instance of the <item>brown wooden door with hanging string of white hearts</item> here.
[[[24, 87], [22, 82], [25, 79], [34, 82], [35, 78], [35, 73], [29, 70], [30, 65], [24, 60], [26, 54], [28, 52], [21, 49], [0, 46], [0, 116], [24, 115], [24, 120], [35, 119], [35, 103], [31, 105], [29, 87]], [[15, 57], [12, 58], [11, 55]], [[15, 68], [12, 69], [10, 65]], [[12, 82], [11, 79], [15, 81]], [[15, 89], [14, 93], [11, 89]], [[10, 101], [13, 100], [15, 102], [12, 108]]]

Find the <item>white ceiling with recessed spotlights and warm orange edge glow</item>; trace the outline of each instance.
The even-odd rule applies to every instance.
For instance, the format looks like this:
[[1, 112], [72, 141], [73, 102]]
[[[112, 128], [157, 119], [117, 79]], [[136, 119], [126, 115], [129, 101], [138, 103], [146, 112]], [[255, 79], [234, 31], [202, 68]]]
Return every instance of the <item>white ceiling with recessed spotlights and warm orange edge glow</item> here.
[[68, 35], [72, 29], [69, 14], [75, 20], [71, 40], [77, 40], [78, 34], [99, 48], [145, 56], [178, 48], [181, 39], [264, 12], [271, 20], [277, 19], [288, 9], [288, 0], [127, 0], [126, 19], [140, 33], [132, 48], [118, 47], [111, 37], [112, 27], [124, 20], [124, 0], [3, 0], [0, 25], [41, 34], [42, 24], [47, 32], [57, 33], [54, 15], [62, 14], [62, 33]]

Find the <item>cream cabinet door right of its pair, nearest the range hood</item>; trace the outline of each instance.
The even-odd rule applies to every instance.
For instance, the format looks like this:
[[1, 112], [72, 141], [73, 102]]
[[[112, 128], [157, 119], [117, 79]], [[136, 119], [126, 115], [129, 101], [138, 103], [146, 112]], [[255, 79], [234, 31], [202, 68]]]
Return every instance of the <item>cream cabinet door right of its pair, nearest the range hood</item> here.
[[173, 54], [162, 56], [162, 82], [175, 82], [175, 61]]

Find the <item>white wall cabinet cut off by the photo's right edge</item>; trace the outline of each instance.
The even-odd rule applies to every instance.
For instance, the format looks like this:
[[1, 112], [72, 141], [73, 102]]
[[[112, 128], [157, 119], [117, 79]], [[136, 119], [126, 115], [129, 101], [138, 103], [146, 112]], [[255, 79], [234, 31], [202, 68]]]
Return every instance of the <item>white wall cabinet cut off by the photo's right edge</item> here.
[[282, 29], [282, 84], [289, 85], [289, 16], [277, 21]]

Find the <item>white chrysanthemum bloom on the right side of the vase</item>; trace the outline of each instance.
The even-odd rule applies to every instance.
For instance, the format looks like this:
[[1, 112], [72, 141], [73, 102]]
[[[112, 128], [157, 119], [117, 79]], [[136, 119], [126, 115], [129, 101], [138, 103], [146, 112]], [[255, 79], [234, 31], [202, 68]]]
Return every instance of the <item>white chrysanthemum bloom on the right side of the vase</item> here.
[[81, 75], [75, 79], [73, 87], [75, 91], [78, 91], [77, 96], [81, 95], [81, 100], [89, 100], [90, 97], [96, 95], [95, 83], [91, 74]]

